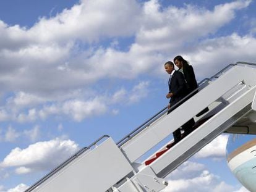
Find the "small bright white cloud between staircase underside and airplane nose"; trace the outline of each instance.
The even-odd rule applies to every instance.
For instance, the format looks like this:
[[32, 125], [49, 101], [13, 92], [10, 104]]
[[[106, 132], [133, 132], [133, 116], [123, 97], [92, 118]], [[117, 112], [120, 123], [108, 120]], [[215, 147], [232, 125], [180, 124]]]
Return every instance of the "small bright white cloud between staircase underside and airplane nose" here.
[[228, 135], [220, 135], [211, 143], [194, 155], [196, 158], [213, 157], [213, 159], [224, 158], [226, 156], [226, 145], [228, 143]]

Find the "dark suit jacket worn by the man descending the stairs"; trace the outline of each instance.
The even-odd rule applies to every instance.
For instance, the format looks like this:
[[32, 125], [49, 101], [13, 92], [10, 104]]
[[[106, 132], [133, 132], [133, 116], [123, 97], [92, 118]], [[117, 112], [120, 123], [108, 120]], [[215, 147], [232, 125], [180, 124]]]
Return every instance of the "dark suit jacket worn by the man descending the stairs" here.
[[[181, 72], [175, 71], [173, 73], [171, 83], [169, 85], [169, 93], [173, 93], [173, 96], [169, 101], [171, 107], [186, 96], [186, 81], [184, 80]], [[173, 109], [171, 111], [173, 111]]]

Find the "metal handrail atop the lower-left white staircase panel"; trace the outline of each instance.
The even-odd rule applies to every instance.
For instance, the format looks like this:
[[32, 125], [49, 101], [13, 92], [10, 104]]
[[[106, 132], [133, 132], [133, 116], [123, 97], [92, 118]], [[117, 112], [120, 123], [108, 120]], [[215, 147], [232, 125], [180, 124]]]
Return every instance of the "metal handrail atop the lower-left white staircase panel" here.
[[48, 173], [47, 175], [45, 175], [45, 177], [41, 178], [38, 182], [36, 182], [35, 184], [33, 184], [32, 186], [30, 186], [30, 188], [28, 188], [27, 190], [25, 190], [25, 192], [30, 192], [32, 190], [34, 190], [37, 186], [41, 185], [43, 182], [45, 182], [46, 180], [48, 180], [48, 178], [50, 178], [51, 176], [53, 176], [55, 173], [59, 172], [59, 170], [61, 170], [62, 168], [66, 167], [67, 164], [69, 164], [71, 161], [73, 161], [74, 159], [76, 159], [77, 157], [79, 157], [81, 154], [83, 154], [83, 152], [87, 151], [88, 149], [92, 148], [92, 146], [95, 146], [96, 143], [98, 143], [100, 140], [102, 140], [103, 138], [109, 138], [110, 136], [108, 135], [103, 135], [100, 138], [98, 138], [98, 140], [94, 141], [92, 144], [90, 144], [90, 146], [85, 147], [80, 149], [79, 151], [77, 151], [73, 156], [69, 157], [69, 159], [67, 159], [66, 161], [64, 161], [61, 165], [59, 165], [58, 167], [56, 167], [55, 169], [53, 169], [50, 173]]

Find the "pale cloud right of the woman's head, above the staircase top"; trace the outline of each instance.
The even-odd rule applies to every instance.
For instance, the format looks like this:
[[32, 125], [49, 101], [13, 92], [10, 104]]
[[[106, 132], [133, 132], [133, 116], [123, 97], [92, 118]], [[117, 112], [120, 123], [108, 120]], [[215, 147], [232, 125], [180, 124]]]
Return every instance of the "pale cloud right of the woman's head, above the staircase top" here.
[[[186, 58], [194, 64], [197, 76], [209, 77], [226, 65], [237, 61], [255, 62], [256, 57], [253, 51], [255, 47], [256, 39], [253, 36], [239, 36], [233, 33], [203, 41], [194, 51], [186, 53]], [[207, 58], [207, 65], [215, 66], [215, 69], [205, 67], [205, 58]]]

